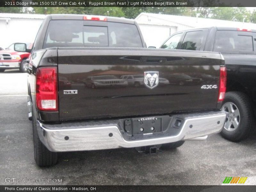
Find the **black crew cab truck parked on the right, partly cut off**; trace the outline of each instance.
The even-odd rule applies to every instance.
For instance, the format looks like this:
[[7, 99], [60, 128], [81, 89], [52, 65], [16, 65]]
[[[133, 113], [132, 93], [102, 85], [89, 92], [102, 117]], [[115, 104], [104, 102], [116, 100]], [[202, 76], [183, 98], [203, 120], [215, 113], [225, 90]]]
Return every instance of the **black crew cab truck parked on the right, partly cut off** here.
[[[240, 141], [255, 130], [256, 30], [210, 27], [180, 31], [160, 48], [213, 51], [223, 54], [227, 67], [227, 93], [222, 109], [228, 112], [221, 135]], [[211, 84], [212, 76], [191, 71], [189, 76]]]

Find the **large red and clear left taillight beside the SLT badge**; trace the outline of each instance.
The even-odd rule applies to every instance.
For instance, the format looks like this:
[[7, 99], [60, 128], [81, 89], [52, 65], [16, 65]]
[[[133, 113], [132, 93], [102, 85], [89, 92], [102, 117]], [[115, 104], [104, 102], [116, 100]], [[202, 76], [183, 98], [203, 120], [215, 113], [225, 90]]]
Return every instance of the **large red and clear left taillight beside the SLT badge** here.
[[57, 67], [36, 70], [36, 106], [41, 111], [58, 111]]

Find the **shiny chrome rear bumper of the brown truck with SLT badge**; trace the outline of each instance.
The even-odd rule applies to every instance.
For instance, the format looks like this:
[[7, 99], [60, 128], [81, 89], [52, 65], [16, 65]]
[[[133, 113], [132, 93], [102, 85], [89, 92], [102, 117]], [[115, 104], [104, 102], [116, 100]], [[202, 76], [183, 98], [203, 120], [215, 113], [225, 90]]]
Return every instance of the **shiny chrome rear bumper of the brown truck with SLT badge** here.
[[[211, 112], [204, 114], [182, 115], [184, 124], [177, 135], [142, 140], [125, 140], [118, 128], [118, 123], [92, 127], [84, 123], [62, 123], [47, 125], [37, 121], [37, 131], [40, 140], [50, 150], [84, 151], [111, 148], [133, 148], [148, 145], [171, 143], [179, 140], [204, 140], [207, 135], [218, 133], [224, 126], [226, 113]], [[48, 127], [47, 127], [48, 126]], [[50, 128], [50, 129], [49, 129]]]

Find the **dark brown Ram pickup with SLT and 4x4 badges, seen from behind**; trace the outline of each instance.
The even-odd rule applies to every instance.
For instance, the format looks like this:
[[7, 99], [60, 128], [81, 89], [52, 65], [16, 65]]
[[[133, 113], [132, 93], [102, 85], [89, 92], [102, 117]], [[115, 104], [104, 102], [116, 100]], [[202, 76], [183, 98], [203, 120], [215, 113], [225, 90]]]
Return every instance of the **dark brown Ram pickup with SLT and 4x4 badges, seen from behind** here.
[[[28, 114], [39, 166], [56, 164], [64, 151], [177, 148], [225, 123], [222, 55], [148, 49], [134, 20], [49, 15], [24, 51], [31, 52]], [[189, 72], [211, 76], [211, 84], [187, 77], [159, 85]], [[124, 75], [142, 75], [143, 86]]]

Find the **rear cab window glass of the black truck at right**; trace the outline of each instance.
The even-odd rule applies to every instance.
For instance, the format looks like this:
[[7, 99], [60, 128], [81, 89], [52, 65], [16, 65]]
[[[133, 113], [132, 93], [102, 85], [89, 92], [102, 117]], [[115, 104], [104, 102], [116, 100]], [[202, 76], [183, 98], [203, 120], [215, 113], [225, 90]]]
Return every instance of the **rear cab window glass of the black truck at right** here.
[[217, 31], [213, 51], [221, 53], [253, 52], [252, 36], [238, 35], [237, 31]]

